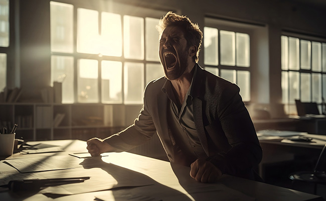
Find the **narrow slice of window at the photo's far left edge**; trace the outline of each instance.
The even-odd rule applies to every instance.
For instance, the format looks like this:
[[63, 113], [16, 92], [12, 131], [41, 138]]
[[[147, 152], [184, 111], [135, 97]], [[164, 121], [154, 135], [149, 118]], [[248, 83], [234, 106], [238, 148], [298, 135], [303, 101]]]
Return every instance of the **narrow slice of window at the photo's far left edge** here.
[[7, 52], [9, 47], [9, 0], [0, 0], [0, 91], [7, 87]]

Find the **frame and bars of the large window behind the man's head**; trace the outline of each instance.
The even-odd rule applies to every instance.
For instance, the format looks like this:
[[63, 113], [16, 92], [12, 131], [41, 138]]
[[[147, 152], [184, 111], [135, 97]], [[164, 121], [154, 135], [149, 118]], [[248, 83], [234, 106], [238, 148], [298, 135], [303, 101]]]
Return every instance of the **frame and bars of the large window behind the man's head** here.
[[[103, 60], [106, 61], [119, 61], [122, 63], [122, 77], [121, 77], [121, 84], [122, 84], [122, 103], [114, 103], [114, 105], [142, 105], [140, 104], [125, 104], [124, 100], [124, 64], [126, 62], [133, 62], [133, 63], [142, 63], [144, 65], [143, 72], [143, 82], [144, 86], [146, 86], [146, 65], [147, 64], [160, 64], [159, 61], [151, 61], [146, 60], [146, 22], [145, 18], [155, 18], [160, 19], [162, 16], [164, 16], [167, 11], [163, 10], [153, 10], [148, 8], [139, 8], [134, 9], [135, 6], [132, 5], [125, 5], [120, 4], [112, 1], [103, 1], [103, 0], [95, 0], [92, 2], [92, 4], [87, 4], [86, 2], [81, 1], [72, 1], [72, 0], [53, 0], [53, 2], [58, 3], [64, 3], [64, 4], [71, 4], [73, 5], [73, 53], [61, 53], [61, 52], [52, 52], [51, 56], [72, 56], [74, 58], [74, 104], [78, 104], [78, 89], [77, 89], [77, 77], [78, 77], [78, 60], [79, 59], [93, 59], [98, 61], [98, 104], [102, 103], [102, 86], [101, 86], [101, 63]], [[50, 4], [50, 3], [49, 3]], [[118, 56], [107, 56], [107, 55], [101, 55], [98, 54], [87, 54], [87, 53], [79, 53], [77, 52], [77, 9], [90, 9], [95, 10], [98, 12], [98, 26], [99, 26], [99, 32], [101, 30], [101, 13], [102, 12], [108, 12], [108, 13], [114, 13], [118, 14], [121, 17], [121, 27], [122, 27], [122, 55], [121, 57]], [[134, 16], [134, 17], [140, 17], [144, 21], [144, 58], [143, 59], [127, 59], [124, 57], [124, 41], [123, 41], [123, 17], [127, 16]], [[158, 32], [157, 32], [157, 43], [158, 43]], [[158, 51], [158, 49], [157, 49]], [[53, 84], [53, 83], [51, 83]], [[88, 104], [88, 103], [87, 103]], [[113, 103], [112, 103], [113, 104]]]

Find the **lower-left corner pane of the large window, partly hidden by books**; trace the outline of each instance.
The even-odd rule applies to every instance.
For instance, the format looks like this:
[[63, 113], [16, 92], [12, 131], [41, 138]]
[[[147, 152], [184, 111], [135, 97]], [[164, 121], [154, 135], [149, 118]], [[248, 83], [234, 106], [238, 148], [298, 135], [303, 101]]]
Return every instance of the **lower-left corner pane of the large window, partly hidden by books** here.
[[74, 103], [74, 57], [51, 56], [52, 85], [54, 81], [62, 82], [62, 103]]

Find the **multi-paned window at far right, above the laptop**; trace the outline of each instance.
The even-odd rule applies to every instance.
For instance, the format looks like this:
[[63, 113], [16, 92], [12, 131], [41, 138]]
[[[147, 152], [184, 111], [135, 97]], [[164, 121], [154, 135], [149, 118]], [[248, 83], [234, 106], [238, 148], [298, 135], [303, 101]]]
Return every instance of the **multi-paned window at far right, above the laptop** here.
[[319, 105], [326, 98], [326, 43], [281, 36], [282, 103], [296, 115], [295, 99]]

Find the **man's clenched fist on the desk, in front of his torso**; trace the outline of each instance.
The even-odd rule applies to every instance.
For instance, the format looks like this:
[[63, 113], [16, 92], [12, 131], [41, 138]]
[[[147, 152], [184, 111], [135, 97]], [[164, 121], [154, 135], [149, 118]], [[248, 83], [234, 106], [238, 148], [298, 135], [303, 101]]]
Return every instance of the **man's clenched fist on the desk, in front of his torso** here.
[[190, 176], [202, 183], [214, 183], [222, 176], [219, 168], [200, 158], [193, 162], [190, 167]]

